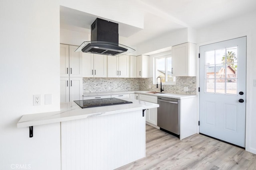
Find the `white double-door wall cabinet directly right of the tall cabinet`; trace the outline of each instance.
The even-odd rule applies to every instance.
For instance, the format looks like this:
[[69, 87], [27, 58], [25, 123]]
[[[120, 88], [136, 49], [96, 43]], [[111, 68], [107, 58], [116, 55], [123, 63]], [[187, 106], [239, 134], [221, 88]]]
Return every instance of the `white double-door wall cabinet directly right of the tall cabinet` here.
[[83, 77], [107, 77], [107, 56], [83, 53]]

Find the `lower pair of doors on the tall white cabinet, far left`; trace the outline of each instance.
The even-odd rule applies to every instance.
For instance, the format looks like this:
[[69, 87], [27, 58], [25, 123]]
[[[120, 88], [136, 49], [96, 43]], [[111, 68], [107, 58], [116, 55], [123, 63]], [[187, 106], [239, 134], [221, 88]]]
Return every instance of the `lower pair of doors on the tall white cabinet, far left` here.
[[60, 102], [82, 100], [82, 77], [60, 77]]

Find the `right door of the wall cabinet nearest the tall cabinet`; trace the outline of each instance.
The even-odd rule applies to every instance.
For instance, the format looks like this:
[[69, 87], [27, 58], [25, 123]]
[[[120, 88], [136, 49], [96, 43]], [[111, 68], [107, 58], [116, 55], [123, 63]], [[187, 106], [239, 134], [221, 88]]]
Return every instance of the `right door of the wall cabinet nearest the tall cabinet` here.
[[106, 55], [94, 54], [94, 77], [108, 76], [108, 59]]

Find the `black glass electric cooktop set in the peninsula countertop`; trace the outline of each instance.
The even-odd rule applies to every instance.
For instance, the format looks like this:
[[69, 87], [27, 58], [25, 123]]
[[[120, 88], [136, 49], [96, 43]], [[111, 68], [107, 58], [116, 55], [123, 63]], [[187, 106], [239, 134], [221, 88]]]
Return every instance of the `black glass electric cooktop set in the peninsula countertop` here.
[[130, 101], [118, 98], [105, 98], [105, 99], [92, 99], [92, 100], [76, 100], [74, 101], [81, 108], [99, 107], [99, 106], [112, 106], [118, 104], [129, 104]]

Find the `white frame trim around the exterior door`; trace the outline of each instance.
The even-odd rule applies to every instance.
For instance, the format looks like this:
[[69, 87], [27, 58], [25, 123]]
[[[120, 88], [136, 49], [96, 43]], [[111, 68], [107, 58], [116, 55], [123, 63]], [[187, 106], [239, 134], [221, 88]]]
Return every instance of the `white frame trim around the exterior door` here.
[[[250, 137], [248, 134], [250, 134], [251, 129], [249, 129], [250, 127], [250, 115], [252, 114], [251, 111], [251, 100], [249, 100], [252, 96], [252, 94], [250, 93], [251, 91], [251, 84], [252, 82], [250, 81], [250, 77], [252, 76], [252, 73], [250, 72], [250, 68], [252, 67], [251, 63], [251, 59], [252, 59], [252, 33], [251, 32], [246, 32], [246, 33], [241, 33], [241, 34], [237, 34], [237, 35], [230, 35], [227, 37], [222, 37], [220, 39], [214, 39], [211, 41], [206, 41], [203, 43], [197, 43], [196, 45], [196, 54], [197, 54], [197, 61], [196, 61], [196, 95], [198, 95], [198, 101], [197, 101], [197, 120], [199, 121], [199, 92], [198, 92], [198, 88], [199, 88], [199, 72], [200, 72], [200, 61], [198, 58], [198, 54], [200, 53], [200, 46], [202, 45], [208, 45], [208, 44], [212, 44], [212, 43], [218, 43], [220, 41], [226, 41], [229, 39], [235, 39], [235, 38], [239, 38], [239, 37], [247, 37], [246, 39], [246, 132], [245, 132], [245, 150], [248, 152], [252, 152], [256, 154], [256, 149], [252, 149], [250, 147]], [[197, 133], [199, 133], [199, 125], [197, 126]]]

